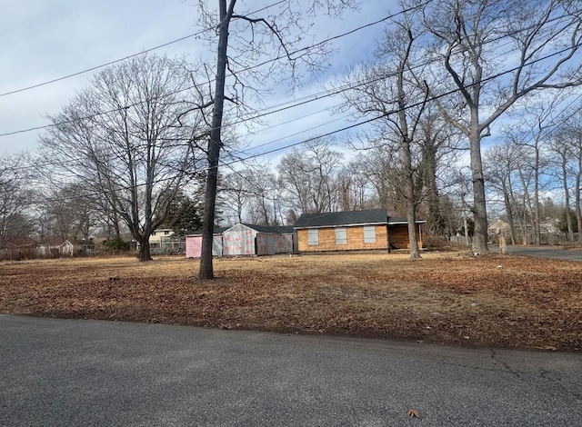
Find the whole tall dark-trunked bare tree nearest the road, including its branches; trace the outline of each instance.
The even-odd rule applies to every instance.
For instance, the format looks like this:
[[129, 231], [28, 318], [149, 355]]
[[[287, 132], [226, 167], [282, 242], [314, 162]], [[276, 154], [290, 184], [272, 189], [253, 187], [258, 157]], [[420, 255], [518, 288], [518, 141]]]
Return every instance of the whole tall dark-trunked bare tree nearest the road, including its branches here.
[[[212, 235], [215, 223], [216, 189], [220, 150], [223, 147], [221, 130], [225, 101], [238, 106], [245, 103], [247, 93], [257, 94], [258, 88], [267, 88], [268, 82], [286, 75], [295, 81], [301, 65], [314, 72], [325, 64], [322, 60], [331, 51], [325, 44], [299, 48], [309, 32], [306, 22], [317, 10], [327, 14], [341, 13], [351, 0], [286, 0], [264, 7], [255, 13], [241, 11], [245, 7], [236, 0], [217, 0], [217, 14], [207, 2], [199, 0], [203, 25], [216, 28], [216, 81], [212, 95], [212, 123], [207, 149], [208, 174], [206, 175], [205, 212], [200, 256], [200, 279], [214, 277], [212, 263]], [[230, 36], [232, 34], [232, 36]], [[265, 56], [275, 54], [275, 61], [259, 69], [256, 63]], [[284, 65], [281, 67], [280, 65]], [[226, 82], [226, 70], [231, 84]]]

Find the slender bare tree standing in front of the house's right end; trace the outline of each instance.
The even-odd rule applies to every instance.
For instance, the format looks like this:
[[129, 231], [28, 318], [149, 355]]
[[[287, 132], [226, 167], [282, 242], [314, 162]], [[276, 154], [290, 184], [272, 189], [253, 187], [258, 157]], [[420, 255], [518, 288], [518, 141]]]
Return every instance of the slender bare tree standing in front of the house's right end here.
[[415, 21], [414, 15], [405, 16], [393, 23], [393, 30], [386, 30], [385, 39], [378, 48], [378, 63], [364, 65], [351, 76], [351, 80], [365, 84], [358, 84], [356, 89], [345, 93], [346, 105], [357, 115], [382, 118], [371, 124], [376, 133], [372, 144], [379, 149], [380, 155], [397, 159], [399, 183], [395, 188], [406, 203], [410, 257], [413, 259], [420, 258], [416, 212], [422, 200], [423, 183], [418, 146], [420, 123], [426, 111], [426, 94], [416, 85], [411, 69], [422, 35]]

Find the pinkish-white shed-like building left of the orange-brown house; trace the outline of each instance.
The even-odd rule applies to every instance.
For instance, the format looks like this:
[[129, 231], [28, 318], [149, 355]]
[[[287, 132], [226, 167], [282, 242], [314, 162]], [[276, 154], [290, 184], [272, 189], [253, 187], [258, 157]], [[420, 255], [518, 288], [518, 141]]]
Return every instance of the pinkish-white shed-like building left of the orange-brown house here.
[[[292, 253], [293, 242], [293, 227], [237, 223], [232, 227], [214, 230], [212, 254], [238, 256]], [[201, 253], [202, 231], [187, 234], [186, 258], [198, 258]]]

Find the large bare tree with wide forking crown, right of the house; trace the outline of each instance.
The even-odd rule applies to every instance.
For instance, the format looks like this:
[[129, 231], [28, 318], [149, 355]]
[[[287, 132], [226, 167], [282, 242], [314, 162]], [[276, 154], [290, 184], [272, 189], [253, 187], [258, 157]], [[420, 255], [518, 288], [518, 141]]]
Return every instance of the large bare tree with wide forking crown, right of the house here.
[[582, 83], [573, 64], [582, 37], [578, 7], [556, 0], [437, 0], [424, 8], [423, 25], [433, 36], [426, 54], [441, 61], [429, 93], [470, 144], [475, 252], [487, 251], [481, 141], [518, 99]]

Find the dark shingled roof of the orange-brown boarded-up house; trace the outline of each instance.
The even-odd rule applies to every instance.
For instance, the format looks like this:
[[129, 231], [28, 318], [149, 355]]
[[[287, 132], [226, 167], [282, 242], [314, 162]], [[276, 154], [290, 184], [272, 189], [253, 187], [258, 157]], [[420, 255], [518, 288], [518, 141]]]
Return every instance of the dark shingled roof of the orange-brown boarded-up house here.
[[301, 214], [294, 228], [318, 228], [339, 225], [358, 225], [369, 223], [388, 223], [384, 209], [369, 211], [324, 212], [319, 214]]

